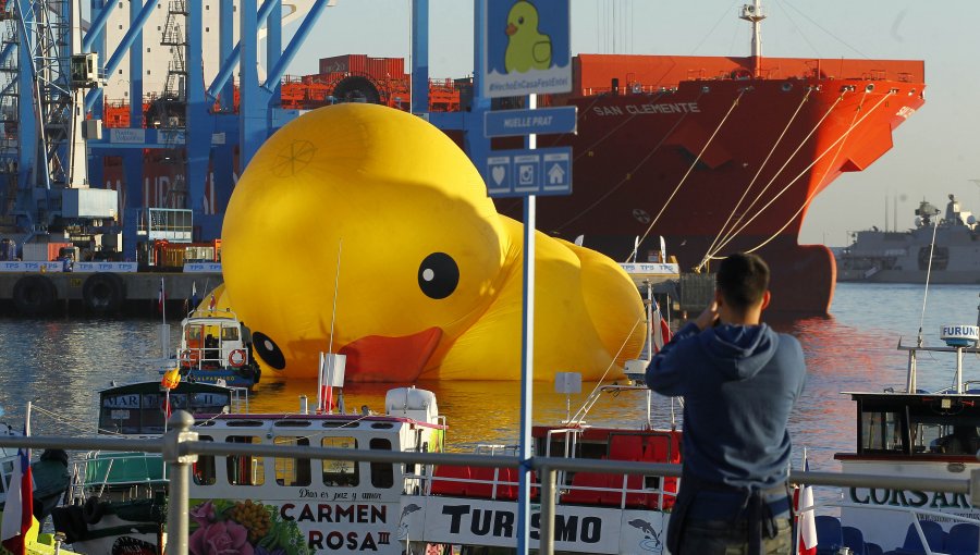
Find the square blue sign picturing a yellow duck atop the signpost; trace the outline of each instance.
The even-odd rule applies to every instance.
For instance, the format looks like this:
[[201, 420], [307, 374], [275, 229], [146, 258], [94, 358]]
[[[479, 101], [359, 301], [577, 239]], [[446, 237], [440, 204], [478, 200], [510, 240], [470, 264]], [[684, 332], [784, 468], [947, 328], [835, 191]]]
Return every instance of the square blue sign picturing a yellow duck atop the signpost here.
[[571, 91], [568, 0], [486, 5], [483, 95]]

